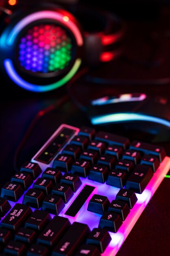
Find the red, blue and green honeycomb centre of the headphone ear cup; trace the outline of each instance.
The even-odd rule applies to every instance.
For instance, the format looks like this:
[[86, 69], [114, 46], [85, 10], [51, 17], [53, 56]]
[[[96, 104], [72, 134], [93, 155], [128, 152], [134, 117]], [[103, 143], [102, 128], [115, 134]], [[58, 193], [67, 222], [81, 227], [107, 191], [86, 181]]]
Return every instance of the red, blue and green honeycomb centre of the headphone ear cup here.
[[57, 72], [70, 64], [72, 41], [54, 24], [36, 25], [24, 34], [18, 46], [18, 60], [31, 72]]

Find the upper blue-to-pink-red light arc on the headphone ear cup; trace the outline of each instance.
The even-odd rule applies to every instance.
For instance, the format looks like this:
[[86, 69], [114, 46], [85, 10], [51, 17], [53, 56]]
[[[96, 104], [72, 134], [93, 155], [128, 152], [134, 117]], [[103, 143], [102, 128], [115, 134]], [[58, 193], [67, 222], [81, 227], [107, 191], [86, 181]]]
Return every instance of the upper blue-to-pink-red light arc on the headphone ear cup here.
[[26, 16], [25, 18], [23, 18], [22, 20], [20, 20], [20, 22], [18, 22], [15, 25], [15, 27], [13, 27], [13, 29], [11, 30], [7, 38], [7, 45], [9, 46], [13, 45], [18, 33], [22, 29], [24, 29], [27, 25], [29, 25], [31, 22], [34, 22], [36, 20], [41, 20], [41, 19], [53, 19], [61, 22], [63, 25], [65, 25], [65, 22], [67, 22], [67, 27], [73, 32], [76, 38], [77, 44], [79, 46], [83, 45], [83, 38], [76, 24], [71, 20], [65, 21], [63, 17], [65, 17], [65, 15], [54, 12], [54, 11], [38, 11], [38, 12], [32, 13]]

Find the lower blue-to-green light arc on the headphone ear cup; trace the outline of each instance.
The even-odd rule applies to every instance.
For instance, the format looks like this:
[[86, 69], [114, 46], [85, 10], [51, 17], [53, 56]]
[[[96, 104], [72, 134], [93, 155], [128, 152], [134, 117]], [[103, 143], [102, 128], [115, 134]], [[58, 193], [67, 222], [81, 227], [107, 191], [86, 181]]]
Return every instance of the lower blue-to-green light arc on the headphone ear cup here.
[[49, 84], [49, 85], [35, 85], [32, 83], [28, 83], [27, 81], [22, 79], [22, 77], [20, 77], [17, 74], [17, 72], [13, 66], [13, 63], [10, 59], [4, 60], [5, 70], [6, 70], [7, 74], [9, 75], [9, 77], [11, 78], [11, 80], [14, 81], [14, 83], [19, 85], [20, 87], [22, 87], [26, 90], [29, 90], [29, 91], [33, 91], [33, 92], [46, 92], [46, 91], [50, 91], [50, 90], [59, 88], [61, 85], [67, 83], [72, 78], [72, 76], [74, 76], [74, 74], [77, 72], [80, 65], [81, 65], [81, 59], [77, 58], [72, 69], [61, 80], [57, 81], [56, 83]]

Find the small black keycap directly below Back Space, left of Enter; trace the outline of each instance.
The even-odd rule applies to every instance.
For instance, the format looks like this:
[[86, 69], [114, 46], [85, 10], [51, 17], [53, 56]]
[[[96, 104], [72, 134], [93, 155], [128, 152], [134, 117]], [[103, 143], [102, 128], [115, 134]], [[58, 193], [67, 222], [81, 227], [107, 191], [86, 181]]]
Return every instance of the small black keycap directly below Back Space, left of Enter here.
[[15, 234], [15, 241], [31, 244], [35, 241], [37, 234], [32, 229], [21, 227]]

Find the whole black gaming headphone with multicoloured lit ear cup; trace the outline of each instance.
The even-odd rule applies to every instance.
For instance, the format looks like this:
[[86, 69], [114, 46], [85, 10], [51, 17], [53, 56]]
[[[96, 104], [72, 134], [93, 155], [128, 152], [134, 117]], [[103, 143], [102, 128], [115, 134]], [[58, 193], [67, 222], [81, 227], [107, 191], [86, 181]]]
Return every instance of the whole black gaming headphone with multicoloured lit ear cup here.
[[21, 88], [54, 90], [80, 66], [120, 55], [124, 29], [112, 13], [76, 4], [28, 2], [0, 9], [0, 69]]

